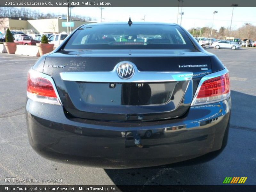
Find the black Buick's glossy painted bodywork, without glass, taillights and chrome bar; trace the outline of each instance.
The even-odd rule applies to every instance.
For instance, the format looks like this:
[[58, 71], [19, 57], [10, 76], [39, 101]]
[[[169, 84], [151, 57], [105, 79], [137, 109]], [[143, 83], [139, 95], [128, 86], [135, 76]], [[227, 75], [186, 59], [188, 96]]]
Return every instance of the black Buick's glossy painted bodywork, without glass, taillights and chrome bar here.
[[[172, 164], [222, 150], [227, 143], [230, 98], [208, 105], [191, 107], [190, 104], [200, 79], [225, 67], [182, 29], [195, 50], [63, 50], [74, 32], [69, 35], [33, 67], [52, 76], [63, 106], [27, 100], [30, 145], [37, 153], [54, 161], [103, 168]], [[153, 102], [152, 96], [147, 100], [140, 96], [141, 93], [149, 95], [154, 91], [152, 88], [139, 93], [135, 84], [116, 84], [111, 93], [114, 89], [109, 83], [115, 82], [98, 83], [97, 88], [108, 94], [104, 100], [105, 92], [97, 95], [97, 89], [93, 88], [95, 83], [65, 82], [60, 77], [65, 71], [112, 71], [120, 61], [130, 61], [140, 71], [189, 71], [194, 76], [192, 82], [175, 82], [172, 93], [162, 91], [165, 96], [156, 97], [152, 106], [148, 105], [149, 101]], [[179, 65], [207, 65], [207, 70]], [[90, 86], [88, 95], [97, 99], [98, 107], [84, 97], [84, 91]], [[118, 105], [111, 103], [116, 95], [121, 98]], [[170, 102], [163, 102], [166, 100]], [[136, 147], [131, 137], [133, 131], [141, 136], [147, 131], [152, 133], [148, 139], [141, 138], [143, 148]]]

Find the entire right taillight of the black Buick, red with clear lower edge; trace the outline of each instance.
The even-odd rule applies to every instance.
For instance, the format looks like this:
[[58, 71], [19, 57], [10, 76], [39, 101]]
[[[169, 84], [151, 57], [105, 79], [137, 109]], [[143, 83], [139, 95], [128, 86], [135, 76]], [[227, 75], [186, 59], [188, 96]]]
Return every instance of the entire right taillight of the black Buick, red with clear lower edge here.
[[214, 76], [212, 74], [206, 75], [200, 81], [196, 90], [195, 97], [191, 105], [203, 105], [213, 102], [225, 100], [230, 95], [230, 82], [228, 70], [225, 69], [225, 74]]

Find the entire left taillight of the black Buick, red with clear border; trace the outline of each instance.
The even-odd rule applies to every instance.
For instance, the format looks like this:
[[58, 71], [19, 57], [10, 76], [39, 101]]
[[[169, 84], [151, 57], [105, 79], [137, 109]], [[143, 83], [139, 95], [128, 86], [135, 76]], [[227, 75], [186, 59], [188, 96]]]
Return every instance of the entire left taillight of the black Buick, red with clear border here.
[[61, 105], [52, 77], [33, 69], [28, 72], [27, 96], [31, 100]]

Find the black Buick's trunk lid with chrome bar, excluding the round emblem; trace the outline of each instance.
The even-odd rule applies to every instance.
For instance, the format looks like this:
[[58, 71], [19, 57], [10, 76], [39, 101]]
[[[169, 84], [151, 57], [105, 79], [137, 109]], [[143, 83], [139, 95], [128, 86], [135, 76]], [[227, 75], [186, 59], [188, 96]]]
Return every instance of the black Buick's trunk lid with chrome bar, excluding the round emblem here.
[[[118, 76], [120, 62], [134, 66], [130, 79]], [[75, 50], [47, 56], [44, 73], [71, 116], [149, 121], [183, 116], [193, 97], [192, 77], [211, 73], [211, 64], [204, 53], [189, 50]]]

